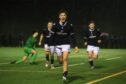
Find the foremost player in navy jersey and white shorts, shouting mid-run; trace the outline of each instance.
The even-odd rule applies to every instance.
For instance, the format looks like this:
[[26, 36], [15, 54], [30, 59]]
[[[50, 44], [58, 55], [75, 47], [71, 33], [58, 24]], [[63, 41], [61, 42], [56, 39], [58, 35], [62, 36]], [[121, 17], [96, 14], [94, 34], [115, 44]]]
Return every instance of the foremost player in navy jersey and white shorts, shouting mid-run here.
[[67, 12], [61, 10], [59, 12], [59, 21], [55, 23], [53, 32], [55, 32], [55, 47], [56, 53], [60, 56], [60, 61], [63, 63], [63, 81], [67, 80], [68, 75], [68, 55], [70, 50], [70, 39], [75, 47], [75, 52], [78, 52], [78, 47], [76, 45], [75, 33], [73, 30], [73, 25], [67, 21]]

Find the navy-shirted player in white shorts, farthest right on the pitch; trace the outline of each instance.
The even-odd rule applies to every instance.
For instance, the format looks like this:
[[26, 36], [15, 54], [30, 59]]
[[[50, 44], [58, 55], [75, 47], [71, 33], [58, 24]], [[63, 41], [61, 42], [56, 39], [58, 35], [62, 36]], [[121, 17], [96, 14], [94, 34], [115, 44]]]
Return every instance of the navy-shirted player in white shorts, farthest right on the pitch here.
[[87, 53], [91, 69], [94, 69], [93, 60], [98, 58], [99, 44], [101, 43], [100, 35], [100, 31], [95, 28], [95, 23], [91, 21], [89, 23], [89, 29], [87, 29], [84, 33], [84, 45], [87, 46]]

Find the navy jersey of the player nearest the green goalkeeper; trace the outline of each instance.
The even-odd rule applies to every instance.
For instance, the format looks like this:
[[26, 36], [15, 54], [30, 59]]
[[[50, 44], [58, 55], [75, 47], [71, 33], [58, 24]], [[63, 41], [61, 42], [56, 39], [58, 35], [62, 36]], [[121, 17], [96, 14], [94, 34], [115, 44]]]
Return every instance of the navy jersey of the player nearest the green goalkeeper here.
[[54, 45], [54, 32], [52, 30], [43, 29], [44, 44]]

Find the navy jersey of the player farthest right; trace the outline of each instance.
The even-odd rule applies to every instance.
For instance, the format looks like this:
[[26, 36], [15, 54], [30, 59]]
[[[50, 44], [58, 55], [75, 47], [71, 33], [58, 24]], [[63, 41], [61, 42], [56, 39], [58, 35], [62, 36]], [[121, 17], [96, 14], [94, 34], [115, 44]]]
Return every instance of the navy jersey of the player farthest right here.
[[84, 41], [88, 45], [99, 46], [98, 40], [101, 40], [101, 32], [98, 29], [87, 29], [84, 32]]

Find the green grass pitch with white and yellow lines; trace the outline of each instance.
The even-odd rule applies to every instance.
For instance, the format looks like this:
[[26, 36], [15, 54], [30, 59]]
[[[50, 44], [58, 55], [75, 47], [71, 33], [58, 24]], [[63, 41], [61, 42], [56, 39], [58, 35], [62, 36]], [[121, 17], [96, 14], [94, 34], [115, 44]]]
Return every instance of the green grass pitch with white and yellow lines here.
[[[55, 56], [56, 69], [45, 68], [45, 56], [42, 48], [37, 48], [38, 65], [29, 61], [21, 64], [9, 64], [23, 56], [23, 48], [0, 48], [0, 84], [63, 84], [62, 67]], [[68, 84], [125, 84], [126, 49], [101, 49], [99, 59], [95, 60], [96, 69], [91, 70], [85, 49], [71, 54], [68, 59]]]

